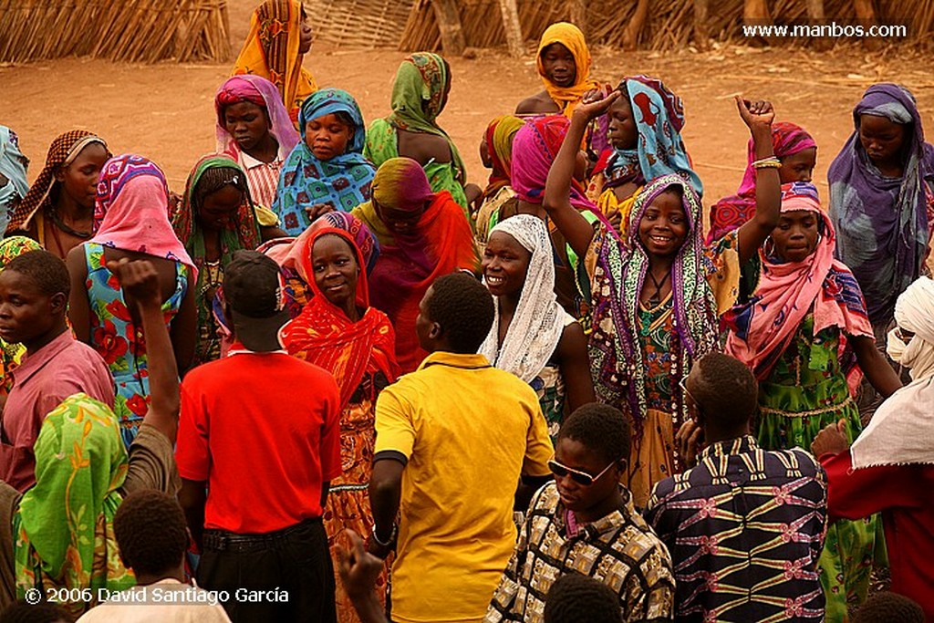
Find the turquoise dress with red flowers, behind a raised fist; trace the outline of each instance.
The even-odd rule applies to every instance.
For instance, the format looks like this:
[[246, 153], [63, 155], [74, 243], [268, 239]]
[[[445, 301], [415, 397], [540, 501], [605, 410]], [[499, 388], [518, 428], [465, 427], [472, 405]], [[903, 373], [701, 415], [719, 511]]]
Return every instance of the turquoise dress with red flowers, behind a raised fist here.
[[[88, 301], [91, 306], [91, 346], [110, 368], [117, 385], [114, 412], [120, 418], [123, 443], [130, 447], [149, 408], [149, 370], [143, 328], [134, 324], [123, 300], [120, 282], [104, 262], [104, 246], [84, 244], [88, 266]], [[188, 290], [189, 268], [176, 262], [176, 290], [163, 303], [168, 327]]]

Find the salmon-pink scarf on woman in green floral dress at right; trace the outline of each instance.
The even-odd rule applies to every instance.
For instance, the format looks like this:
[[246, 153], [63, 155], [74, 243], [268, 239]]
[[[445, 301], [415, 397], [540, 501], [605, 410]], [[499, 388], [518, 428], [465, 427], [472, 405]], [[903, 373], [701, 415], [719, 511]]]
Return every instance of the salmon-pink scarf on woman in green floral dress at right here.
[[[841, 358], [847, 335], [872, 336], [856, 279], [833, 258], [837, 235], [814, 185], [795, 182], [782, 187], [782, 212], [798, 210], [814, 212], [822, 223], [814, 252], [800, 262], [778, 262], [760, 250], [762, 276], [755, 294], [725, 317], [730, 328], [727, 352], [748, 365], [758, 380], [771, 374], [809, 312], [814, 313], [814, 335], [828, 327], [840, 328]], [[854, 378], [847, 380], [852, 389]]]

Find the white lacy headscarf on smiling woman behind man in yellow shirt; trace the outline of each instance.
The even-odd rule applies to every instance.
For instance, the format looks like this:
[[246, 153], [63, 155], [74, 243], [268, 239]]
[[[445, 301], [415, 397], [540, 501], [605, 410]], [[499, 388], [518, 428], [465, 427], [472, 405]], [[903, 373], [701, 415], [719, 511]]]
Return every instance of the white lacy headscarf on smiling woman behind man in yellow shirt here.
[[545, 222], [538, 217], [520, 214], [500, 222], [490, 231], [490, 236], [495, 232], [516, 238], [531, 253], [531, 260], [516, 313], [506, 330], [502, 347], [499, 345], [500, 302], [494, 299], [496, 316], [493, 328], [480, 347], [480, 354], [497, 368], [530, 383], [551, 359], [564, 331], [565, 320], [570, 316], [558, 304], [555, 295], [555, 263]]

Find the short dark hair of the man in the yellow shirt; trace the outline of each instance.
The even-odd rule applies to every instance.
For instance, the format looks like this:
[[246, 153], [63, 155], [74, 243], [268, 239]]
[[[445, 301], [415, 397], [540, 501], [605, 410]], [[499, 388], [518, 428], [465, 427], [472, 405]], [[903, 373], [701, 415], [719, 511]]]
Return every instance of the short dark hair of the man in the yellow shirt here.
[[429, 319], [441, 325], [447, 345], [454, 352], [475, 353], [493, 326], [493, 295], [474, 276], [453, 273], [432, 284], [425, 304]]

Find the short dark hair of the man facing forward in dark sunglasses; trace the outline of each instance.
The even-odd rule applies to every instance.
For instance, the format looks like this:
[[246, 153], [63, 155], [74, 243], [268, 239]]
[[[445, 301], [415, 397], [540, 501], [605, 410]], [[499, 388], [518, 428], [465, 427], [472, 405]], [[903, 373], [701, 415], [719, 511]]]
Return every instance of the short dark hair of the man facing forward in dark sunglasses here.
[[587, 446], [607, 463], [630, 456], [630, 420], [609, 404], [588, 403], [577, 407], [561, 424], [558, 439], [565, 437]]

